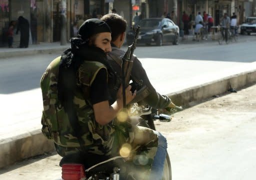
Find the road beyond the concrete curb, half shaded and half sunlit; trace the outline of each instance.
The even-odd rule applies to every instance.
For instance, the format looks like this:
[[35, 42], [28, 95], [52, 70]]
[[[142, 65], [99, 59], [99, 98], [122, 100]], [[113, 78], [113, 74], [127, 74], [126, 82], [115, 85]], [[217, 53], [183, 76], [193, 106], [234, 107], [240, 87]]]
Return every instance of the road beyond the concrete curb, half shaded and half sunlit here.
[[[140, 60], [156, 90], [168, 94], [222, 78], [229, 69], [248, 65], [255, 61], [254, 49], [255, 41], [251, 39], [222, 46], [215, 42], [161, 47], [139, 46], [135, 52], [141, 57]], [[223, 61], [221, 57], [226, 55], [229, 60]], [[56, 56], [58, 54], [38, 54], [0, 60], [0, 114], [5, 119], [0, 121], [0, 140], [12, 137], [10, 132], [19, 135], [40, 128], [42, 100], [39, 81], [46, 66]], [[216, 56], [218, 58], [213, 58]], [[33, 121], [28, 122], [28, 119]], [[24, 124], [27, 126], [24, 127]]]

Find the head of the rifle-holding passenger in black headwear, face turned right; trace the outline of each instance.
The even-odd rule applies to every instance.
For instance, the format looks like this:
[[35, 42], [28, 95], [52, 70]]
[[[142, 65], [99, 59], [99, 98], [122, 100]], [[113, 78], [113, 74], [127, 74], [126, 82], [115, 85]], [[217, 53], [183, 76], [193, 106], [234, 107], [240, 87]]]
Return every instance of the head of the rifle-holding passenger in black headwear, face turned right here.
[[105, 52], [111, 51], [111, 29], [104, 21], [88, 19], [80, 26], [78, 34], [89, 45], [95, 45]]

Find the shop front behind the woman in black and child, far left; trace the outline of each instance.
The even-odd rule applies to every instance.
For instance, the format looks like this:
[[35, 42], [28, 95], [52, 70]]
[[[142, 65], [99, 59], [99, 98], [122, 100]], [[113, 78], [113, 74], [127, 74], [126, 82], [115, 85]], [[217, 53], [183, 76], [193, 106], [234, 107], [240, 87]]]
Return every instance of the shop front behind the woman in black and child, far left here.
[[[23, 16], [29, 22], [29, 44], [44, 41], [45, 17], [43, 0], [0, 0], [0, 46], [6, 46], [6, 31], [11, 21]], [[15, 27], [16, 28], [16, 27]], [[14, 44], [18, 44], [19, 34], [15, 34]]]

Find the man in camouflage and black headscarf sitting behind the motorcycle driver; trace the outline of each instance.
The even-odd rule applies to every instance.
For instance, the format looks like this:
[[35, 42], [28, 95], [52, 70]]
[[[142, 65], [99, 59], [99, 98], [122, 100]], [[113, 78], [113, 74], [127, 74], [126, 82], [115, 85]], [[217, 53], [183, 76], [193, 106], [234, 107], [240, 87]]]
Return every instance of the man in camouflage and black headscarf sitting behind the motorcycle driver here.
[[[111, 51], [109, 38], [99, 39], [101, 45], [107, 46], [101, 50], [90, 43], [93, 40], [98, 42], [100, 33], [108, 35], [111, 32], [102, 22], [98, 19], [86, 20], [78, 36], [71, 39], [71, 48], [54, 59], [45, 70], [40, 82], [42, 133], [54, 140], [56, 152], [62, 157], [76, 152], [103, 156], [117, 152], [127, 162], [145, 169], [144, 173], [137, 174], [137, 180], [144, 180], [157, 151], [158, 135], [148, 128], [132, 126], [127, 121], [120, 123], [116, 118], [122, 108], [122, 93], [119, 87], [115, 93], [110, 88], [120, 84], [105, 56]], [[135, 96], [130, 86], [125, 94], [127, 103]], [[99, 116], [103, 122], [99, 121]], [[83, 159], [81, 157], [76, 161], [85, 164], [80, 161]]]

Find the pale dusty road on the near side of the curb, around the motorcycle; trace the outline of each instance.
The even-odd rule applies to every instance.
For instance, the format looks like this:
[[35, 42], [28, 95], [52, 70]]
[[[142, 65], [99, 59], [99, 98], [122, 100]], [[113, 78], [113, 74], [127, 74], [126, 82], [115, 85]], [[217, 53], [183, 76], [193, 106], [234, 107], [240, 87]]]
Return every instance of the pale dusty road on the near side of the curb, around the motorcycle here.
[[[255, 180], [256, 85], [175, 113], [156, 122], [168, 142], [173, 180]], [[56, 180], [58, 155], [0, 170], [0, 180]]]

